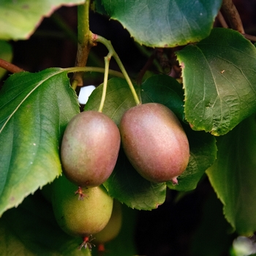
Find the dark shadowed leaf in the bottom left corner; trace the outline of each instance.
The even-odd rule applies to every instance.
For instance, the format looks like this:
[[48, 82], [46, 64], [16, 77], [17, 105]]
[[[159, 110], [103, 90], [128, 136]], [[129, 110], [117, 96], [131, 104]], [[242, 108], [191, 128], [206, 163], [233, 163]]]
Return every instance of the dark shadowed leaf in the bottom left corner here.
[[52, 206], [38, 192], [0, 219], [0, 255], [90, 256], [89, 249], [78, 249], [81, 242], [61, 230]]

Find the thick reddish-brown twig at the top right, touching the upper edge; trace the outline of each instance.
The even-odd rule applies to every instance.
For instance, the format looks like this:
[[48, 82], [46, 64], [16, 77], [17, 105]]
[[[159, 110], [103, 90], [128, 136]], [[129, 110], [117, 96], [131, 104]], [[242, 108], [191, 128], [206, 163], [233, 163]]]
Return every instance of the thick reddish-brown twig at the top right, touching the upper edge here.
[[227, 15], [231, 28], [236, 29], [241, 34], [244, 34], [244, 26], [233, 1], [223, 0], [222, 10], [225, 12], [225, 15]]

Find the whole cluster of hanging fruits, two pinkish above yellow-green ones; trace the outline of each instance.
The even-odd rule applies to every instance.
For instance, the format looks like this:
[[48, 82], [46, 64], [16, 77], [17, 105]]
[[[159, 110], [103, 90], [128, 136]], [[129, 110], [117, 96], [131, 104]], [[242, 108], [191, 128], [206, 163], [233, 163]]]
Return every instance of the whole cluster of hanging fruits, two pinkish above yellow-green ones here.
[[187, 135], [165, 105], [146, 103], [130, 108], [119, 129], [111, 118], [93, 110], [72, 118], [61, 143], [64, 176], [54, 182], [52, 200], [60, 227], [72, 236], [83, 237], [80, 248], [91, 249], [92, 234], [97, 234], [99, 243], [108, 241], [104, 235], [112, 233], [105, 231], [108, 226], [115, 230], [113, 237], [120, 229], [121, 217], [118, 227], [111, 224], [111, 214], [116, 216], [113, 198], [101, 186], [113, 172], [120, 145], [135, 170], [155, 183], [178, 184], [177, 177], [189, 162]]

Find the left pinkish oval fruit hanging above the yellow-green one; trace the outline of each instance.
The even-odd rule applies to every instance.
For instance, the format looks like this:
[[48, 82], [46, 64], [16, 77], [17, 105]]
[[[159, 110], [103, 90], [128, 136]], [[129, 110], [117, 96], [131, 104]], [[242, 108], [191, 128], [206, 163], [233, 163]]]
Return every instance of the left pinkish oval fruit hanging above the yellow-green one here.
[[85, 111], [71, 119], [61, 143], [64, 174], [80, 187], [97, 187], [113, 171], [120, 133], [108, 116]]

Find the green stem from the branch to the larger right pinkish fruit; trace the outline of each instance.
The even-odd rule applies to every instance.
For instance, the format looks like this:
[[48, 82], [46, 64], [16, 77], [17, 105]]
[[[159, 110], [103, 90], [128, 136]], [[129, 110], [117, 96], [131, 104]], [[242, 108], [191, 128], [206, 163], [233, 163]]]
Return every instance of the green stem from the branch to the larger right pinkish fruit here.
[[136, 105], [140, 105], [141, 102], [140, 102], [140, 99], [138, 97], [138, 94], [136, 93], [135, 88], [132, 84], [132, 81], [130, 80], [129, 75], [127, 74], [127, 71], [126, 71], [126, 69], [124, 68], [124, 65], [121, 62], [121, 59], [119, 59], [119, 57], [118, 57], [116, 51], [114, 50], [111, 42], [109, 40], [105, 39], [104, 37], [99, 36], [97, 34], [92, 34], [92, 41], [93, 42], [101, 42], [103, 45], [105, 45], [106, 48], [108, 48], [108, 51], [109, 51], [108, 58], [110, 59], [111, 56], [113, 56], [113, 58], [116, 60], [116, 63], [118, 64], [118, 67], [121, 69], [121, 72], [123, 73], [125, 80], [127, 80], [127, 83], [129, 85], [129, 89], [132, 91], [132, 95], [135, 99]]

